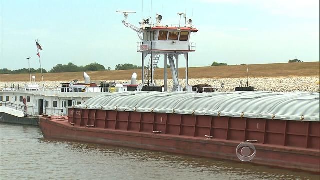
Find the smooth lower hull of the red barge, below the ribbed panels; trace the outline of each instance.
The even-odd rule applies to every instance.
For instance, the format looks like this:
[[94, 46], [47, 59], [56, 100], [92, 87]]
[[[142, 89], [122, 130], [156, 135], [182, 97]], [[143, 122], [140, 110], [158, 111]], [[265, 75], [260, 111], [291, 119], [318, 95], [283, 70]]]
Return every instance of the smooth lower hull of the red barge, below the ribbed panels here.
[[[237, 145], [242, 142], [241, 140], [154, 134], [143, 131], [99, 128], [97, 126], [89, 128], [76, 126], [76, 124], [72, 126], [70, 125], [70, 119], [67, 121], [45, 117], [40, 117], [40, 128], [46, 138], [126, 146], [241, 162], [235, 152]], [[254, 144], [254, 146], [256, 148], [256, 156], [250, 163], [316, 173], [320, 171], [320, 152], [316, 149], [281, 147], [279, 145], [258, 143]]]

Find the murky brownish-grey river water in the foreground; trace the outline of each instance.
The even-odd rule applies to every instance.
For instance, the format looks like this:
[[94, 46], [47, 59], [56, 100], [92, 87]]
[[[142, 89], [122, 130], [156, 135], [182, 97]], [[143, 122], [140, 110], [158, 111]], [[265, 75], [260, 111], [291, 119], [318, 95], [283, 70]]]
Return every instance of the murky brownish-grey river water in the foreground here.
[[125, 147], [44, 139], [0, 123], [2, 179], [320, 179], [306, 172]]

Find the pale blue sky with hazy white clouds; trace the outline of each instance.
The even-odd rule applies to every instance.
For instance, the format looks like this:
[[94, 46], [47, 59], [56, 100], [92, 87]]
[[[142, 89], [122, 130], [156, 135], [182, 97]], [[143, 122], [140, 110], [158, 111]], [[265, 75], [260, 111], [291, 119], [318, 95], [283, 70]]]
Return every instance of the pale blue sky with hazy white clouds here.
[[116, 10], [136, 11], [128, 17], [136, 26], [156, 13], [178, 24], [177, 12], [186, 12], [199, 30], [190, 37], [190, 67], [319, 61], [319, 0], [1, 0], [0, 68], [28, 68], [26, 57], [39, 68], [35, 39], [46, 70], [68, 62], [141, 65], [139, 38]]

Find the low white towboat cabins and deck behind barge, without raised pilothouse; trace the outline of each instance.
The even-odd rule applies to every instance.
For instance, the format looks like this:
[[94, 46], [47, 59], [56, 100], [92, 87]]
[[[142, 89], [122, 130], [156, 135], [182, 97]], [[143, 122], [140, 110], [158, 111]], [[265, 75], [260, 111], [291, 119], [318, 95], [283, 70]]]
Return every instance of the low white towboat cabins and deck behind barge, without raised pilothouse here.
[[[136, 78], [136, 73], [134, 74]], [[11, 87], [5, 86], [1, 88], [0, 109], [1, 114], [3, 113], [1, 116], [5, 115], [5, 118], [1, 118], [1, 121], [14, 122], [17, 120], [12, 119], [16, 119], [16, 117], [33, 117], [37, 119], [38, 115], [66, 116], [68, 107], [81, 104], [101, 93], [139, 90], [139, 84], [136, 84], [136, 79], [134, 79], [134, 84], [128, 83], [130, 85], [128, 89], [127, 86], [115, 82], [93, 82], [85, 72], [83, 77], [84, 83], [77, 83], [77, 80], [74, 80], [53, 88], [39, 87], [35, 82], [26, 84], [24, 87], [12, 85]], [[34, 76], [33, 80], [35, 81]]]

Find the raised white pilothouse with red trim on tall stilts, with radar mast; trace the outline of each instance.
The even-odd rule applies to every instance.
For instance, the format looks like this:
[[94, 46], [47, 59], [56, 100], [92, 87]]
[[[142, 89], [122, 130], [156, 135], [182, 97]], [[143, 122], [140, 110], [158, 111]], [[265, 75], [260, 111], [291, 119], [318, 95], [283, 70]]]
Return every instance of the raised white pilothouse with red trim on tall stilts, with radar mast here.
[[[195, 51], [195, 43], [190, 42], [192, 32], [198, 32], [192, 24], [192, 19], [186, 20], [186, 13], [177, 13], [180, 16], [180, 22], [175, 24], [161, 24], [162, 15], [156, 14], [156, 23], [152, 24], [150, 20], [142, 19], [140, 27], [136, 27], [127, 21], [128, 13], [134, 11], [116, 11], [124, 13], [125, 20], [122, 23], [137, 32], [140, 41], [137, 42], [137, 52], [142, 56], [142, 67], [145, 66], [145, 58], [149, 56], [147, 68], [142, 68], [143, 88], [156, 86], [154, 81], [154, 70], [160, 60], [160, 56], [164, 56], [164, 91], [168, 91], [167, 85], [167, 61], [171, 68], [173, 87], [171, 91], [182, 91], [183, 87], [179, 84], [179, 55], [183, 55], [185, 59], [185, 89], [192, 91], [192, 86], [188, 84], [188, 63], [189, 52]], [[181, 15], [184, 18], [184, 25], [181, 24]], [[152, 88], [154, 89], [154, 88]]]

